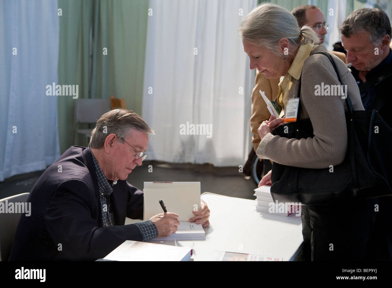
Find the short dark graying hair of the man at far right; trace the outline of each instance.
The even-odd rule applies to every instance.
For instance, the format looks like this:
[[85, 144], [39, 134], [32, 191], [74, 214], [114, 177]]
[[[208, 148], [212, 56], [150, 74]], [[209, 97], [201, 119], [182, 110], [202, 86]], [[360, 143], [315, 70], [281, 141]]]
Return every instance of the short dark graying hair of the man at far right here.
[[370, 34], [369, 40], [374, 45], [379, 45], [386, 34], [392, 38], [387, 13], [379, 8], [361, 8], [352, 11], [340, 25], [339, 30], [345, 37], [367, 31]]

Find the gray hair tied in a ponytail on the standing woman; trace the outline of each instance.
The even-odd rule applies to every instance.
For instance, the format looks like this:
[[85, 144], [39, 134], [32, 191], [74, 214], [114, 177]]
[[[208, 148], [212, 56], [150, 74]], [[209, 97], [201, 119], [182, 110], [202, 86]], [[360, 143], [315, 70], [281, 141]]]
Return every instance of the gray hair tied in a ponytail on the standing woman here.
[[296, 18], [289, 10], [275, 4], [264, 3], [254, 8], [241, 22], [238, 29], [241, 38], [252, 44], [276, 51], [276, 43], [287, 38], [295, 48], [306, 43], [318, 43], [319, 37], [308, 26], [298, 27]]

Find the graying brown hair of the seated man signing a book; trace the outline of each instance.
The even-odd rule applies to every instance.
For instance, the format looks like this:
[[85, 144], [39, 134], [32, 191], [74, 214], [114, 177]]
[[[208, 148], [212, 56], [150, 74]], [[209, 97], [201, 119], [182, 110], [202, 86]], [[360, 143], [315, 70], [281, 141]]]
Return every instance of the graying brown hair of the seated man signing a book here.
[[115, 109], [106, 112], [98, 119], [97, 125], [91, 132], [89, 147], [100, 149], [105, 143], [109, 134], [116, 134], [118, 141], [123, 143], [123, 139], [131, 132], [130, 129], [136, 129], [148, 134], [155, 134], [147, 123], [138, 114], [127, 109]]

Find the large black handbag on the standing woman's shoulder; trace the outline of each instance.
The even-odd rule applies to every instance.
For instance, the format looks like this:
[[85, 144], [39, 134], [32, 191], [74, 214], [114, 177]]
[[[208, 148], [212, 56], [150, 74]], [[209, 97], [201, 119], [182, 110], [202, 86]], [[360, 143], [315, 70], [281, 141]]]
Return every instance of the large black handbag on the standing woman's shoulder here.
[[[318, 53], [328, 57], [339, 82], [344, 85], [332, 57], [325, 52]], [[300, 91], [301, 82], [298, 97]], [[376, 110], [354, 110], [348, 93], [346, 104], [348, 143], [343, 163], [334, 166], [333, 172], [330, 172], [330, 168], [308, 169], [274, 162], [271, 195], [275, 202], [321, 205], [336, 203], [343, 199], [367, 199], [392, 195], [391, 127]], [[301, 105], [299, 109], [300, 107]], [[288, 129], [285, 129], [286, 126]], [[281, 125], [274, 129], [273, 133], [296, 139], [314, 136], [310, 119]]]

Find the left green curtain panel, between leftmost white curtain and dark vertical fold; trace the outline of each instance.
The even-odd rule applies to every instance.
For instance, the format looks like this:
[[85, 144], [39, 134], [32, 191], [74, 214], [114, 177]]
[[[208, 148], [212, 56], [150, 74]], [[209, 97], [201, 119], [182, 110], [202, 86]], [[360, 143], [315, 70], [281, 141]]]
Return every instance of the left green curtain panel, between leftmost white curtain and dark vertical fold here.
[[[79, 85], [78, 98], [89, 98], [89, 34], [93, 1], [58, 0], [58, 7], [62, 9], [62, 16], [59, 16], [58, 84]], [[60, 153], [74, 145], [75, 101], [72, 96], [58, 96]], [[75, 142], [85, 145], [86, 141], [81, 140], [76, 138]]]

